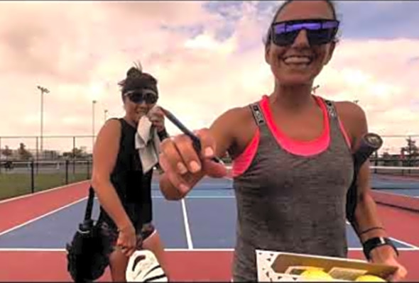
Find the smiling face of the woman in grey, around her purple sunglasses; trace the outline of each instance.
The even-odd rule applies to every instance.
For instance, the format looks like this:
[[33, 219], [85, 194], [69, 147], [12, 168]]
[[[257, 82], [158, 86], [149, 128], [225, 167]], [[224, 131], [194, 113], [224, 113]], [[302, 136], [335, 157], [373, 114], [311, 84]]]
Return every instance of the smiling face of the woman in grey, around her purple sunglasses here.
[[[334, 20], [334, 14], [326, 1], [292, 1], [278, 14], [274, 23], [310, 19]], [[279, 84], [312, 84], [323, 66], [330, 61], [335, 43], [310, 45], [307, 33], [304, 29], [300, 30], [288, 45], [278, 45], [272, 40], [268, 43], [265, 59]]]

